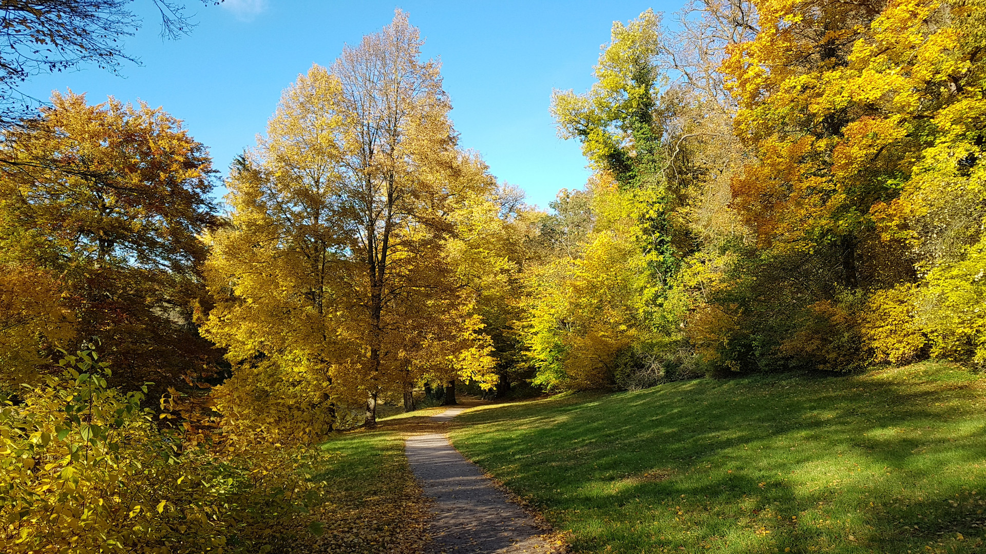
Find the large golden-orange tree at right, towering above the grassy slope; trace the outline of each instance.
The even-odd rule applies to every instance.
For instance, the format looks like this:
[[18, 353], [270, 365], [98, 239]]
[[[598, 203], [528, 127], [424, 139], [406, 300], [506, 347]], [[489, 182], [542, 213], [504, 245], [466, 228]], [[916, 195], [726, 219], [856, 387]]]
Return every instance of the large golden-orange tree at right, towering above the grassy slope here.
[[[932, 190], [949, 182], [963, 191], [960, 204], [978, 202], [974, 192], [964, 192], [975, 182], [975, 164], [952, 168], [935, 156], [976, 157], [976, 119], [963, 115], [963, 130], [951, 134], [957, 119], [949, 114], [958, 105], [963, 114], [975, 112], [978, 93], [970, 96], [969, 89], [980, 79], [974, 68], [983, 51], [975, 31], [981, 10], [938, 1], [752, 6], [757, 31], [731, 47], [723, 65], [740, 105], [737, 133], [755, 156], [733, 181], [735, 204], [755, 230], [763, 262], [746, 266], [759, 283], [747, 282], [740, 296], [762, 295], [768, 302], [760, 306], [787, 300], [764, 312], [762, 328], [773, 329], [773, 338], [751, 342], [773, 343], [780, 358], [832, 369], [861, 363], [866, 337], [886, 345], [893, 342], [886, 334], [899, 331], [900, 344], [918, 344], [911, 325], [877, 331], [863, 314], [899, 311], [879, 303], [900, 295], [878, 294], [874, 305], [867, 299], [875, 291], [899, 287], [921, 296], [909, 285], [926, 263], [942, 258], [929, 258], [930, 250], [914, 244], [934, 248], [942, 243], [937, 238], [961, 236], [947, 247], [957, 252], [978, 236], [971, 232], [976, 209], [959, 209], [966, 223], [943, 226], [955, 196]], [[930, 174], [936, 177], [923, 177]], [[922, 199], [936, 197], [943, 207], [925, 212]], [[932, 212], [940, 215], [918, 215]], [[943, 234], [945, 228], [957, 233]], [[914, 305], [912, 314], [917, 311]], [[919, 352], [911, 348], [909, 356]]]

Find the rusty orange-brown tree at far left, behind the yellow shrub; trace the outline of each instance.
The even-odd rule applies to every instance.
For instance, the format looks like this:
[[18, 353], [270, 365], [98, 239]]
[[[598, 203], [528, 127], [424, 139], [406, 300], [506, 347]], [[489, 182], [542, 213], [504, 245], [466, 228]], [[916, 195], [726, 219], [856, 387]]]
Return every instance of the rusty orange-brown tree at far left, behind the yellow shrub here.
[[213, 371], [218, 352], [192, 322], [205, 302], [197, 235], [216, 223], [205, 147], [160, 108], [51, 104], [0, 146], [14, 162], [0, 168], [0, 262], [47, 275], [38, 291], [54, 287], [79, 339], [102, 341], [114, 379]]

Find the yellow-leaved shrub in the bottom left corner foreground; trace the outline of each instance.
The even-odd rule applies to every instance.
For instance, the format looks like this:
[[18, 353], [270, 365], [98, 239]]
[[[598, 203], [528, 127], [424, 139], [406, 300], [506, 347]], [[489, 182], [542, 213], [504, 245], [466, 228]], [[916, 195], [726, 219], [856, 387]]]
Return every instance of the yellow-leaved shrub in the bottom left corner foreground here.
[[[0, 407], [0, 552], [268, 552], [311, 488], [283, 449], [162, 432], [92, 352]], [[146, 391], [146, 390], [145, 390]]]

